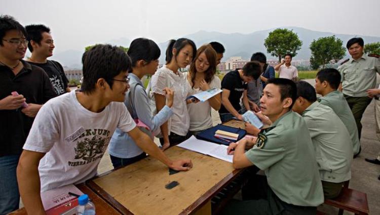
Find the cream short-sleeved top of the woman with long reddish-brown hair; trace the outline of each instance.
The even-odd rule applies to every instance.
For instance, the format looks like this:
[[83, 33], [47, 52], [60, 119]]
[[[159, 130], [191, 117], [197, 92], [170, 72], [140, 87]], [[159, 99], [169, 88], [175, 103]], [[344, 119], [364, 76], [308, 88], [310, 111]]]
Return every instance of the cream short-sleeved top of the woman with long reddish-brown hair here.
[[[187, 73], [185, 75], [187, 75]], [[187, 81], [187, 84], [188, 84], [188, 87], [191, 89], [192, 87], [188, 81]], [[211, 89], [221, 88], [220, 79], [217, 75], [214, 75], [214, 78], [212, 78], [209, 86]], [[188, 93], [188, 96], [201, 93], [201, 92], [202, 90], [200, 88], [193, 88]], [[198, 131], [205, 130], [209, 127], [212, 127], [211, 105], [208, 100], [205, 102], [187, 104], [187, 110], [188, 110], [188, 115], [190, 116], [189, 131], [198, 132]]]

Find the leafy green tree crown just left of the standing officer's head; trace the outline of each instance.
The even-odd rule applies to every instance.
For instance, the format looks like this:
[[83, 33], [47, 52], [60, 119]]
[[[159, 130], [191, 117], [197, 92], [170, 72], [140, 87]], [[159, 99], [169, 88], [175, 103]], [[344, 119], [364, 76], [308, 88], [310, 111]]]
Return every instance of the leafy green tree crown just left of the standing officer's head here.
[[342, 46], [343, 41], [333, 36], [319, 37], [310, 44], [312, 56], [310, 64], [313, 69], [325, 68], [329, 63], [336, 63], [346, 54], [346, 49]]

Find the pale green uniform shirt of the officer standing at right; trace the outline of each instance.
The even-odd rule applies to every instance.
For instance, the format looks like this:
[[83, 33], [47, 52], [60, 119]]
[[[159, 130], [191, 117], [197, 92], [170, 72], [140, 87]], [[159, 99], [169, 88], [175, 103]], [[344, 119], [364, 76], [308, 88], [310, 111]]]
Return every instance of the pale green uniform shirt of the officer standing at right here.
[[366, 97], [368, 89], [375, 88], [376, 72], [380, 74], [380, 59], [366, 54], [359, 60], [350, 60], [338, 67], [343, 94], [351, 97]]

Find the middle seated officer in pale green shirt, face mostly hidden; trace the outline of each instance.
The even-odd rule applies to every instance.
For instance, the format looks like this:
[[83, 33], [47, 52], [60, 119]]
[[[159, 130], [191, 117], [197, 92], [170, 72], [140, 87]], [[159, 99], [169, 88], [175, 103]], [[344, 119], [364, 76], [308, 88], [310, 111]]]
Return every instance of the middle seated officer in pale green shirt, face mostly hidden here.
[[351, 179], [352, 143], [346, 126], [334, 111], [317, 102], [313, 86], [298, 81], [293, 111], [299, 113], [309, 128], [319, 175], [326, 199], [339, 195], [343, 183]]

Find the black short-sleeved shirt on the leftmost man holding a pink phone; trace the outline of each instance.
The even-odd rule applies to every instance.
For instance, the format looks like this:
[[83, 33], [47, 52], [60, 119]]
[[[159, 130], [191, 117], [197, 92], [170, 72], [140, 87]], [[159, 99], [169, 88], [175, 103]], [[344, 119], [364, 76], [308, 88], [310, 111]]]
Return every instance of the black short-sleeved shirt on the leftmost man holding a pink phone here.
[[[21, 62], [24, 68], [17, 75], [9, 67], [0, 65], [0, 100], [13, 91], [23, 95], [26, 103], [40, 105], [57, 96], [43, 69]], [[22, 113], [21, 108], [0, 110], [0, 157], [21, 154], [33, 120]]]

